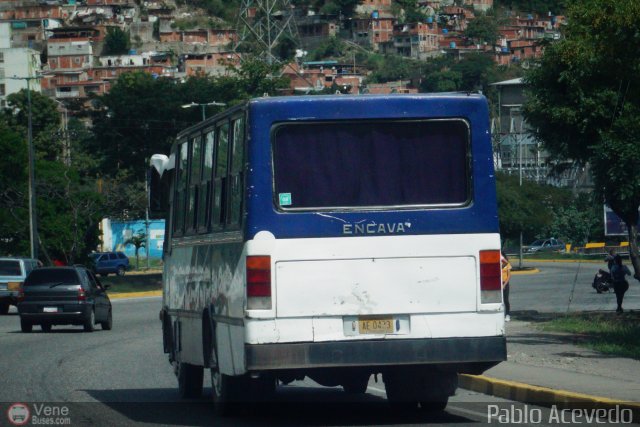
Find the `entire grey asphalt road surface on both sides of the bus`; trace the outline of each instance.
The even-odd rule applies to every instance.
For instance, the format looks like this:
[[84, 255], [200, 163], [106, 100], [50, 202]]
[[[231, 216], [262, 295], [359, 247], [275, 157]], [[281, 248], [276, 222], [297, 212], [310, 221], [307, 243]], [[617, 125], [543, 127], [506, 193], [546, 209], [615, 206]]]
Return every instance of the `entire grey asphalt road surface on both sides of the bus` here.
[[[538, 267], [539, 274], [512, 279], [514, 310], [566, 310], [576, 271], [572, 310], [612, 307], [612, 295], [598, 295], [590, 286], [596, 265]], [[637, 288], [632, 283], [629, 308], [638, 308]], [[34, 332], [25, 334], [20, 332], [15, 308], [10, 315], [0, 316], [0, 425], [8, 425], [5, 414], [14, 402], [27, 403], [32, 411], [34, 402], [67, 407], [71, 425], [83, 426], [471, 425], [487, 422], [489, 405], [498, 405], [500, 411], [523, 408], [459, 389], [444, 413], [399, 413], [387, 404], [382, 382], [375, 383], [373, 378], [367, 394], [357, 398], [340, 387], [324, 388], [307, 380], [279, 387], [275, 404], [243, 408], [237, 416], [221, 419], [209, 404], [208, 378], [202, 398], [179, 400], [176, 379], [162, 353], [160, 298], [113, 304], [113, 330], [94, 333], [76, 326], [54, 326], [51, 333], [34, 327]]]

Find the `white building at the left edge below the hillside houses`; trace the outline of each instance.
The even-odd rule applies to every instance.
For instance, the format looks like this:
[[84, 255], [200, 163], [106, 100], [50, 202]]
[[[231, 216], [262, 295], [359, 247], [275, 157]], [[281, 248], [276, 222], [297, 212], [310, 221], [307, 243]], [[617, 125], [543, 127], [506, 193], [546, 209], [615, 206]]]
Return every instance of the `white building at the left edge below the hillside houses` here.
[[[26, 47], [0, 49], [0, 107], [6, 106], [6, 98], [27, 88], [41, 91], [39, 80], [27, 81], [40, 71], [40, 53]], [[18, 77], [15, 79], [13, 77]]]

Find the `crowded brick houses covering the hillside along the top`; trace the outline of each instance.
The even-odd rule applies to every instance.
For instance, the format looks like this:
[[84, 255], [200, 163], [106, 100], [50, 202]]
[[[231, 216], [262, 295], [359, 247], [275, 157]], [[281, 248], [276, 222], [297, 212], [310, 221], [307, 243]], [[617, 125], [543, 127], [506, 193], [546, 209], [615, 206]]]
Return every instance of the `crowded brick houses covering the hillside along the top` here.
[[[416, 4], [426, 16], [424, 22], [398, 22], [391, 0], [362, 0], [350, 18], [298, 8], [295, 22], [300, 46], [310, 51], [329, 37], [337, 37], [365, 50], [416, 60], [484, 53], [497, 64], [510, 65], [538, 57], [542, 51], [539, 41], [556, 38], [563, 23], [563, 17], [512, 16], [507, 25], [499, 27], [496, 43], [489, 46], [469, 40], [465, 30], [477, 14], [493, 7], [493, 0], [465, 0], [463, 6], [453, 0]], [[130, 52], [103, 54], [110, 28], [129, 33]], [[34, 52], [40, 53], [42, 64], [33, 72], [42, 78], [33, 84], [39, 82], [43, 93], [87, 106], [92, 95], [108, 92], [122, 73], [144, 71], [181, 80], [222, 75], [239, 63], [233, 52], [236, 29], [216, 17], [180, 8], [172, 0], [0, 0], [0, 40], [5, 41], [3, 49], [27, 49], [16, 51], [24, 56], [24, 63], [33, 63]], [[347, 71], [346, 66], [320, 68], [303, 62], [304, 58], [285, 71], [291, 77], [292, 93], [335, 88], [349, 93], [409, 90], [399, 83], [365, 88], [367, 70], [355, 63]], [[0, 73], [0, 102], [17, 87], [7, 83], [6, 74]]]

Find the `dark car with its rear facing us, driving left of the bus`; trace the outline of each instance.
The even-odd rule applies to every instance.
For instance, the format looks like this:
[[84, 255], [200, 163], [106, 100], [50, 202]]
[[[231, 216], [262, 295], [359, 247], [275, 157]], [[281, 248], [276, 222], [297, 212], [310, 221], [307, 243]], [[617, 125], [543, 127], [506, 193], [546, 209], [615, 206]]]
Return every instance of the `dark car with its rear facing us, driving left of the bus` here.
[[22, 332], [40, 325], [49, 332], [52, 325], [82, 325], [92, 332], [100, 323], [110, 330], [113, 324], [108, 285], [102, 285], [85, 267], [42, 267], [27, 276], [18, 313]]

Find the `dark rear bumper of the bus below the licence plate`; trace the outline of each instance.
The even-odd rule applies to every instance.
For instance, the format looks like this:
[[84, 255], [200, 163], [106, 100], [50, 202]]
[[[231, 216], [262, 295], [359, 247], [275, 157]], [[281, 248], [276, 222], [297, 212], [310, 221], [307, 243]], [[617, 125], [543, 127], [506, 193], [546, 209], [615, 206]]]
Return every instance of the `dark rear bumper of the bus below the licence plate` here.
[[507, 344], [504, 336], [246, 344], [245, 357], [249, 371], [401, 365], [485, 370], [507, 360]]

